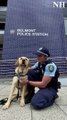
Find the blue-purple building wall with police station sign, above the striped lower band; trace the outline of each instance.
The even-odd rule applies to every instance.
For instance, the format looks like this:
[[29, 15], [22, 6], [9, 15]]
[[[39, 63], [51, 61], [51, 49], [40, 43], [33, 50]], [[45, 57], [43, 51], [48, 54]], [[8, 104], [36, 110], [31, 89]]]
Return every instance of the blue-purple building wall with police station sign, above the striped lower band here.
[[18, 0], [0, 0], [0, 2], [0, 59], [14, 59], [22, 54], [32, 57], [32, 52], [43, 45], [50, 49], [52, 57], [67, 56], [66, 3], [65, 8], [59, 12], [54, 9], [53, 12], [53, 8], [49, 8], [49, 0], [42, 1], [43, 3], [40, 0], [36, 3], [32, 0], [19, 0], [19, 3]]

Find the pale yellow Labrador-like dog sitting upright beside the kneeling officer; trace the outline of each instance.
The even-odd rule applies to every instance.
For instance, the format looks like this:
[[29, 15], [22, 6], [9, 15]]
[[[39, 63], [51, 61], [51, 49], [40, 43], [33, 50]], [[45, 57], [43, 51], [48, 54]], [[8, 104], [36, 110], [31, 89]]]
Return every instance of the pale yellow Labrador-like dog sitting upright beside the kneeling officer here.
[[[15, 69], [16, 75], [13, 77], [10, 94], [9, 94], [7, 102], [5, 103], [5, 105], [3, 105], [3, 110], [8, 109], [11, 104], [11, 101], [17, 97], [17, 94], [16, 95], [13, 95], [13, 94], [15, 92], [15, 88], [17, 88], [18, 79], [19, 78], [27, 79], [28, 68], [30, 67], [30, 60], [27, 57], [22, 56], [22, 57], [18, 58], [15, 65], [16, 65], [16, 69]], [[27, 94], [26, 88], [27, 88], [27, 85], [23, 85], [21, 87], [20, 105], [22, 107], [25, 105], [25, 95]]]

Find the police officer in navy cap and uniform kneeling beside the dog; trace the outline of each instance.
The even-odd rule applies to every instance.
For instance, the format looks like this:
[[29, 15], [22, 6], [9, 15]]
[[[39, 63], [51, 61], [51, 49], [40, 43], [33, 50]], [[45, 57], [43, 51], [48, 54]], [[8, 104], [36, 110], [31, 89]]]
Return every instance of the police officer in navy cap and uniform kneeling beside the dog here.
[[47, 48], [39, 48], [35, 54], [37, 62], [29, 70], [28, 80], [20, 81], [20, 83], [28, 83], [32, 88], [29, 88], [30, 91], [34, 91], [33, 86], [39, 88], [39, 91], [31, 99], [31, 105], [35, 109], [43, 109], [54, 103], [59, 72], [55, 63], [48, 59], [50, 53]]

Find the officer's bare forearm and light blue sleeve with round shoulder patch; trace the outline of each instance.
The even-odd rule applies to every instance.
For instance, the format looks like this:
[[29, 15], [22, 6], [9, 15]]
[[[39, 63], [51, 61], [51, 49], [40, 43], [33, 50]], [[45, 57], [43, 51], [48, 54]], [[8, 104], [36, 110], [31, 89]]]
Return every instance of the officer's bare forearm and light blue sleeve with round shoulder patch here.
[[47, 84], [51, 81], [52, 77], [55, 76], [56, 69], [57, 69], [57, 67], [54, 63], [46, 65], [42, 81], [41, 82], [33, 82], [33, 81], [29, 80], [29, 84], [36, 86], [36, 87], [40, 87], [40, 88], [46, 87]]

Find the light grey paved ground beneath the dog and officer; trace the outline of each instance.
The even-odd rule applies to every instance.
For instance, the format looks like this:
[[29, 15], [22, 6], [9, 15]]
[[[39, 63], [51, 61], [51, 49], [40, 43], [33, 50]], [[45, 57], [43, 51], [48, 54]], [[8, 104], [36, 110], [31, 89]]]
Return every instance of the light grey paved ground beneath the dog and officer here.
[[[34, 110], [30, 104], [20, 107], [19, 101], [12, 102], [11, 107], [4, 111], [0, 105], [0, 120], [67, 120], [67, 82], [62, 81], [62, 87], [58, 92], [59, 98], [55, 100], [53, 106], [43, 110]], [[63, 84], [65, 80], [65, 84]], [[9, 94], [11, 81], [0, 79], [0, 99]]]

